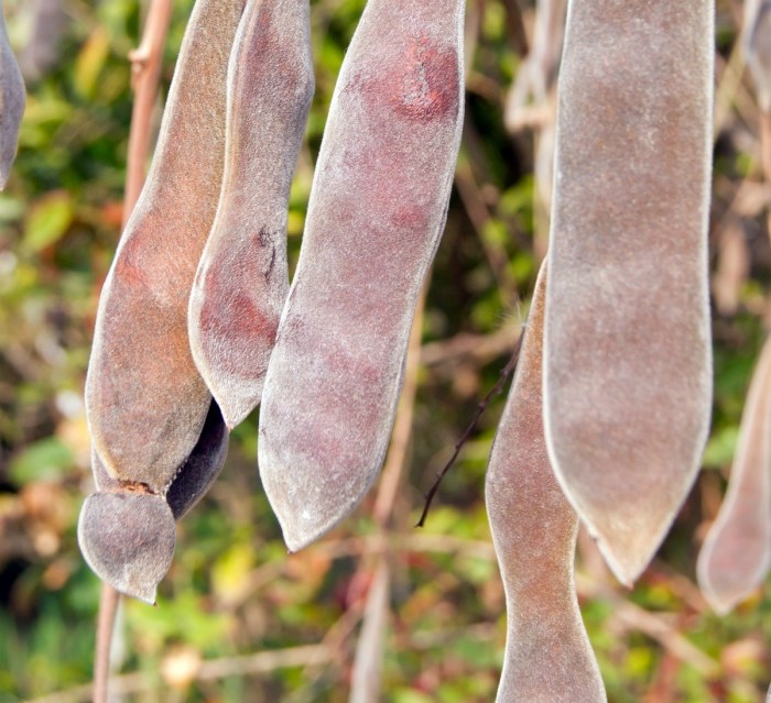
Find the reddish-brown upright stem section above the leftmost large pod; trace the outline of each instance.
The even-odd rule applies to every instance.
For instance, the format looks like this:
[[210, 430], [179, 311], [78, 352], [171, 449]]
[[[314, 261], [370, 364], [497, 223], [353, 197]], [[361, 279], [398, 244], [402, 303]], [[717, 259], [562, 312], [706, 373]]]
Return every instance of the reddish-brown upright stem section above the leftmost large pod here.
[[126, 193], [123, 196], [123, 226], [137, 205], [144, 185], [144, 165], [150, 151], [152, 110], [158, 96], [166, 43], [172, 17], [172, 0], [152, 0], [144, 22], [140, 45], [129, 53], [131, 85], [134, 105], [131, 112], [129, 152], [127, 156]]

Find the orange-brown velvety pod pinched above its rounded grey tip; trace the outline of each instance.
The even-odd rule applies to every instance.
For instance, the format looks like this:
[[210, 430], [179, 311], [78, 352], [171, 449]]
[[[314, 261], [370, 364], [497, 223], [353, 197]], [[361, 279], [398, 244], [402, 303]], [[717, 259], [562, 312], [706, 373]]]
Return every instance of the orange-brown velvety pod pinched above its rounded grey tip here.
[[187, 299], [219, 196], [226, 73], [242, 9], [240, 0], [194, 8], [148, 182], [97, 314], [86, 407], [97, 483], [109, 476], [119, 488], [87, 498], [78, 539], [100, 578], [145, 601], [171, 563], [174, 513], [216, 475], [227, 441], [217, 439], [218, 409], [206, 429], [211, 396], [191, 356]]

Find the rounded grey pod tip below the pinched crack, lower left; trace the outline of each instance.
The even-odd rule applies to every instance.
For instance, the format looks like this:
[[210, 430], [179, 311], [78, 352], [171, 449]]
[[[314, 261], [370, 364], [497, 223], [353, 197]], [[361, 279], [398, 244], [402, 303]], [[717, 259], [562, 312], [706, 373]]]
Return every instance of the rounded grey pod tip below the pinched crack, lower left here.
[[117, 591], [150, 605], [175, 542], [174, 516], [158, 495], [95, 493], [80, 510], [78, 543], [88, 565]]

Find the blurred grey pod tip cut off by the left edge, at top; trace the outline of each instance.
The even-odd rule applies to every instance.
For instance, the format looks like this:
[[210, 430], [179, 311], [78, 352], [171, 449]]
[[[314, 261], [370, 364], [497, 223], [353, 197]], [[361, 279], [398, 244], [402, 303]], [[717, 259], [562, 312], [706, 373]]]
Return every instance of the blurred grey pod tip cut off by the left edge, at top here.
[[0, 190], [6, 187], [17, 156], [19, 125], [25, 102], [24, 79], [8, 42], [6, 19], [0, 4]]

